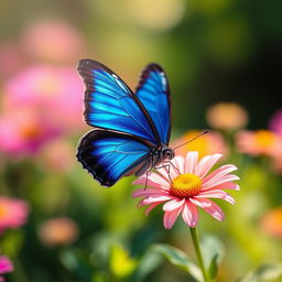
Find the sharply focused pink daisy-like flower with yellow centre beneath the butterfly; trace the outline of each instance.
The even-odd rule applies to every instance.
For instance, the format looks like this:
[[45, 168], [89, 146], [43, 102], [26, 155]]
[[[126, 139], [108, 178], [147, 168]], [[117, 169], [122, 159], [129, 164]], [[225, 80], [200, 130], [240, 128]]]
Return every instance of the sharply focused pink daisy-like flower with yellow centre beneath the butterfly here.
[[[133, 192], [133, 197], [143, 197], [139, 206], [148, 205], [147, 215], [158, 205], [163, 204], [163, 224], [166, 229], [172, 228], [178, 215], [189, 227], [198, 223], [198, 209], [203, 208], [218, 220], [225, 215], [221, 208], [209, 198], [221, 198], [230, 204], [235, 199], [224, 189], [239, 189], [234, 181], [239, 180], [237, 175], [230, 174], [237, 167], [227, 164], [209, 173], [210, 169], [221, 158], [221, 154], [206, 155], [198, 161], [198, 152], [188, 152], [185, 158], [177, 155], [167, 170], [159, 169], [158, 173], [148, 175], [149, 188]], [[145, 185], [147, 176], [142, 175], [134, 184]]]

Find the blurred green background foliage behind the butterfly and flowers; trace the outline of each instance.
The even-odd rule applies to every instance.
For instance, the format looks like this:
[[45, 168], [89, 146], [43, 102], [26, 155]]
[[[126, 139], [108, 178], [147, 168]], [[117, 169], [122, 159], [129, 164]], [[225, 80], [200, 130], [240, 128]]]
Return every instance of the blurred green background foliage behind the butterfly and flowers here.
[[[281, 12], [279, 0], [1, 0], [1, 115], [10, 95], [7, 84], [21, 72], [44, 65], [69, 68], [78, 77], [78, 59], [89, 57], [115, 69], [132, 89], [148, 63], [162, 65], [172, 90], [173, 139], [188, 129], [207, 128], [206, 110], [218, 101], [242, 105], [250, 129], [267, 128], [281, 107]], [[35, 43], [46, 46], [41, 54], [43, 45], [36, 46], [26, 34], [42, 22], [67, 26], [69, 42], [64, 45], [59, 39], [53, 42], [43, 33], [34, 35]], [[56, 53], [61, 47], [63, 52]], [[82, 84], [76, 104], [82, 112], [83, 96]], [[63, 104], [56, 110], [67, 113]], [[14, 113], [18, 108], [9, 111]], [[178, 220], [172, 230], [164, 230], [161, 208], [145, 217], [135, 207], [133, 177], [101, 188], [76, 162], [76, 144], [89, 130], [82, 115], [77, 119], [80, 127], [69, 133], [75, 127], [70, 121], [58, 137], [70, 144], [72, 153], [61, 155], [64, 151], [58, 148], [54, 159], [44, 151], [45, 143], [31, 154], [0, 152], [0, 194], [30, 205], [26, 224], [0, 235], [0, 251], [14, 263], [7, 281], [198, 279], [187, 226]], [[235, 131], [223, 135], [230, 152], [225, 162], [239, 167], [241, 191], [232, 193], [235, 206], [220, 202], [225, 221], [200, 213], [199, 232], [217, 238], [204, 245], [203, 249], [209, 250], [205, 258], [212, 256], [208, 265], [214, 275], [218, 267], [218, 282], [282, 281], [281, 235], [272, 236], [261, 227], [263, 215], [282, 205], [281, 175], [272, 170], [270, 158], [239, 153]], [[77, 225], [79, 234], [74, 241], [48, 246], [41, 238], [41, 225], [56, 217], [70, 218]], [[225, 254], [218, 257], [224, 248]]]

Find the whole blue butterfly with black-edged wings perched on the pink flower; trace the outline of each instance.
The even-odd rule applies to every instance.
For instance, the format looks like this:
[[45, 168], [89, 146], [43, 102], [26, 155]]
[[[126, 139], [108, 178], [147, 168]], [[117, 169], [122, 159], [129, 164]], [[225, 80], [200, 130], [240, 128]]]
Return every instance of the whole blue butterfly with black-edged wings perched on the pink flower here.
[[135, 93], [96, 61], [82, 59], [78, 72], [86, 86], [85, 121], [95, 129], [82, 138], [77, 159], [101, 185], [174, 158], [171, 94], [161, 66], [144, 68]]

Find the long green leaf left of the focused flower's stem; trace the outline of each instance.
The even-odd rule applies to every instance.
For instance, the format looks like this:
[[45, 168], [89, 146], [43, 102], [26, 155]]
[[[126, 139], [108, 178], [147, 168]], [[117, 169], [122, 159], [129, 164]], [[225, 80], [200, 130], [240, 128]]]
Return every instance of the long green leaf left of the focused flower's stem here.
[[152, 249], [163, 254], [172, 264], [189, 273], [196, 281], [203, 281], [199, 268], [182, 250], [165, 243], [153, 245]]

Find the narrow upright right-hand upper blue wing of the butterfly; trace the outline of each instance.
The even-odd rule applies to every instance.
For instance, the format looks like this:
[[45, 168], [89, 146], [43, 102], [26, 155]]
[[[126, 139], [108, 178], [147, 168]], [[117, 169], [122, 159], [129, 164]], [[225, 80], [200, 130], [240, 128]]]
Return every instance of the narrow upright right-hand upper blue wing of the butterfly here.
[[171, 94], [165, 72], [161, 66], [147, 66], [142, 72], [135, 96], [147, 109], [161, 142], [169, 144], [172, 124]]

